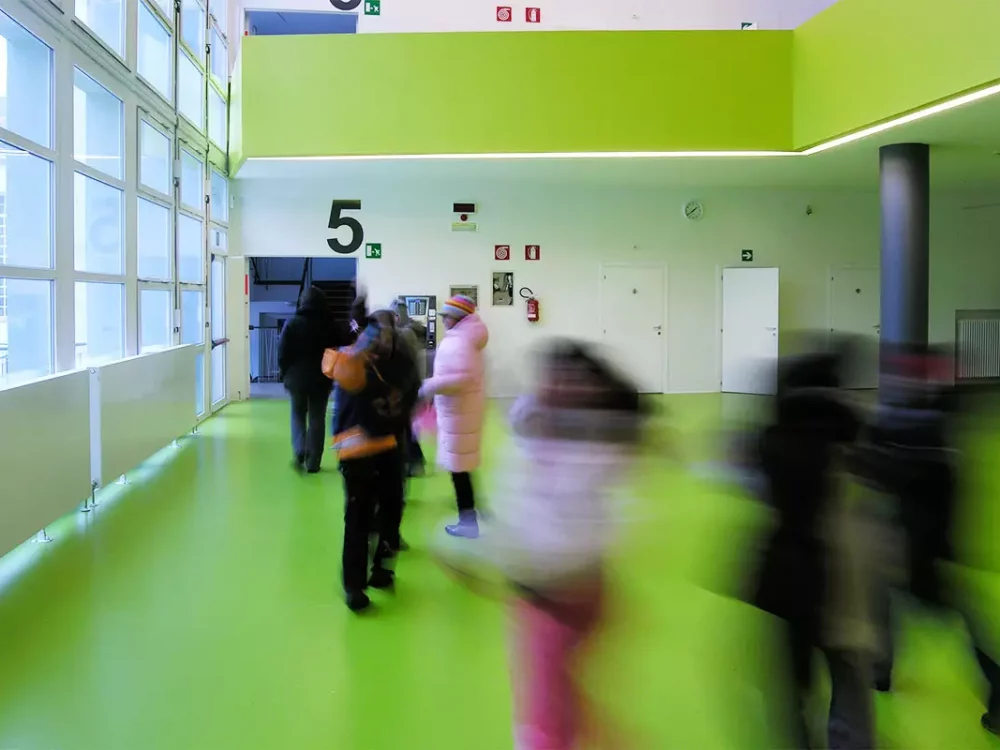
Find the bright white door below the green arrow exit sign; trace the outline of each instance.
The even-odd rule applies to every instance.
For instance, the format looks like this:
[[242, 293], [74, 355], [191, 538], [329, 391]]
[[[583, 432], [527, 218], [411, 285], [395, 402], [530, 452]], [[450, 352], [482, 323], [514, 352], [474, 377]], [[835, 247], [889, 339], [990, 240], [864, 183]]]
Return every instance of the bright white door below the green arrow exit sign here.
[[778, 377], [778, 269], [722, 272], [722, 391], [771, 395]]

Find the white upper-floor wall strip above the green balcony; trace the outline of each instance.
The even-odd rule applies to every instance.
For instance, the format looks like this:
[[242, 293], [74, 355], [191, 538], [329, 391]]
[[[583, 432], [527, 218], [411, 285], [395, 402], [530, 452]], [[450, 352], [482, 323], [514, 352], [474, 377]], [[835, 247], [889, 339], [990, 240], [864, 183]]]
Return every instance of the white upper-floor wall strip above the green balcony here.
[[[563, 30], [713, 30], [739, 29], [743, 22], [759, 29], [793, 29], [836, 0], [382, 0], [381, 14], [358, 11], [359, 33], [435, 31]], [[329, 0], [240, 0], [231, 10], [235, 55], [245, 10], [331, 11]], [[510, 23], [497, 22], [497, 7], [514, 9]], [[525, 22], [525, 9], [542, 11], [541, 23]]]

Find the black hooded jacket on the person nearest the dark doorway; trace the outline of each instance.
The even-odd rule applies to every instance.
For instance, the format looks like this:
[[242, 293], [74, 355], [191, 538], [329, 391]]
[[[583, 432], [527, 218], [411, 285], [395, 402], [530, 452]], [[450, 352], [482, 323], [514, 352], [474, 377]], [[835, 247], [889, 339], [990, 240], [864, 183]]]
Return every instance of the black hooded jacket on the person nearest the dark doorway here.
[[285, 324], [278, 342], [278, 370], [289, 390], [329, 389], [323, 375], [323, 352], [344, 342], [326, 305], [326, 296], [310, 287], [299, 301], [295, 316]]

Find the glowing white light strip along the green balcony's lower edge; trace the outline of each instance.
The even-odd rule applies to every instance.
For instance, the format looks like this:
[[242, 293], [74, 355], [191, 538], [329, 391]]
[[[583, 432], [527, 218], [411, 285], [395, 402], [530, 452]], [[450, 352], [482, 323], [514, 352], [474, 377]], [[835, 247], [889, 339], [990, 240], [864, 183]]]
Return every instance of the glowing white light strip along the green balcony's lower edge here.
[[908, 115], [888, 120], [880, 125], [859, 130], [839, 138], [820, 143], [804, 151], [559, 151], [542, 153], [499, 154], [358, 154], [339, 156], [252, 156], [247, 162], [313, 162], [313, 161], [528, 161], [531, 159], [756, 159], [774, 156], [812, 156], [838, 146], [860, 141], [900, 125], [907, 125], [948, 110], [971, 104], [1000, 94], [1000, 84], [989, 86], [971, 94], [935, 104]]

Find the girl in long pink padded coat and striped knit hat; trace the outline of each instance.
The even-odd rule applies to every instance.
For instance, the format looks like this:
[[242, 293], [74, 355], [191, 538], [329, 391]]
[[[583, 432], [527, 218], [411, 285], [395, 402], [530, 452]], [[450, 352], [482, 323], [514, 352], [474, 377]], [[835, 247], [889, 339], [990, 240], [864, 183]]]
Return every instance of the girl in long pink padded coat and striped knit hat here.
[[438, 422], [438, 465], [451, 472], [458, 501], [458, 523], [446, 526], [452, 536], [479, 536], [472, 472], [479, 468], [486, 414], [483, 349], [489, 332], [476, 314], [476, 303], [456, 296], [444, 303], [441, 318], [447, 333], [434, 357], [434, 375], [421, 394], [434, 397]]

